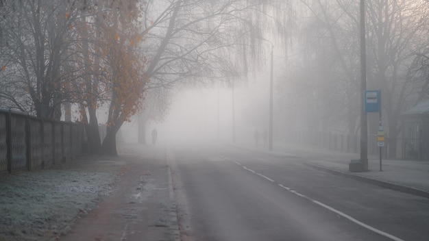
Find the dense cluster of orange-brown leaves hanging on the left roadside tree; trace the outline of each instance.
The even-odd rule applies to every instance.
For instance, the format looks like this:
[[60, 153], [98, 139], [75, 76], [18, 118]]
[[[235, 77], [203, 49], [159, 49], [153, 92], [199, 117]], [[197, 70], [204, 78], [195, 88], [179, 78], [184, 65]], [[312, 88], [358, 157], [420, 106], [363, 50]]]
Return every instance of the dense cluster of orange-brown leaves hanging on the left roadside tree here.
[[106, 88], [110, 95], [108, 126], [121, 125], [140, 110], [143, 100], [145, 56], [138, 51], [141, 37], [134, 29], [113, 26], [103, 33], [101, 47]]

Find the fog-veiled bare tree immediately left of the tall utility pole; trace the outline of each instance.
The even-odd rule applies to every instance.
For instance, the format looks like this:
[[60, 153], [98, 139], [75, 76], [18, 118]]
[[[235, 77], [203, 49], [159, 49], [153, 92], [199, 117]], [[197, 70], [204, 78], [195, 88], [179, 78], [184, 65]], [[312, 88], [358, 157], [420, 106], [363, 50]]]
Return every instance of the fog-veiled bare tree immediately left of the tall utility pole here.
[[[299, 99], [297, 118], [311, 131], [339, 131], [356, 134], [360, 103], [358, 81], [357, 3], [302, 1], [306, 17], [295, 34], [286, 97]], [[347, 12], [345, 12], [347, 10]], [[352, 14], [356, 10], [355, 14]], [[349, 13], [350, 15], [348, 15]], [[288, 88], [284, 87], [288, 90]], [[293, 101], [293, 102], [295, 102]], [[287, 101], [291, 102], [291, 100]], [[291, 102], [291, 103], [293, 103]], [[293, 106], [289, 107], [293, 108]], [[313, 120], [318, 119], [315, 123]]]

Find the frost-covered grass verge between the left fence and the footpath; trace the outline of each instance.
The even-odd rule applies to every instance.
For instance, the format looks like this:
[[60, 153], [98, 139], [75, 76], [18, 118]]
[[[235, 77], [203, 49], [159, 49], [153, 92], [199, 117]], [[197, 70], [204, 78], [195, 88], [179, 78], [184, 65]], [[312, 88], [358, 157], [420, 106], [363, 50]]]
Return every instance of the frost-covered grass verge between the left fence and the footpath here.
[[47, 170], [0, 176], [0, 241], [55, 240], [112, 192], [121, 157], [79, 157]]

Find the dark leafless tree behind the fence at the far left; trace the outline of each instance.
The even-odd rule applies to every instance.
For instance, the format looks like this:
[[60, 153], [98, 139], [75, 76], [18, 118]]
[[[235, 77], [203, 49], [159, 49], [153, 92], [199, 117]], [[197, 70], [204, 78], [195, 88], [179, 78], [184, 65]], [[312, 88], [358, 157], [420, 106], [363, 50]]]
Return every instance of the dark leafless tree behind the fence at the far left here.
[[[2, 97], [41, 118], [61, 116], [64, 81], [61, 67], [73, 43], [75, 12], [67, 1], [8, 1], [2, 21], [3, 61], [9, 86]], [[70, 3], [73, 5], [73, 2]]]

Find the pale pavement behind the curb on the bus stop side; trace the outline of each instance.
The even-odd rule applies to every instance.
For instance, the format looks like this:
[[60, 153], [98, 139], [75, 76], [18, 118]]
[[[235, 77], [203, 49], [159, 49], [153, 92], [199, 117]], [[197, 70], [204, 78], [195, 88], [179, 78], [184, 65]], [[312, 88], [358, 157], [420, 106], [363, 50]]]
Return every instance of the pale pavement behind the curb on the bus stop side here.
[[424, 196], [429, 198], [429, 160], [382, 160], [382, 171], [380, 171], [379, 157], [369, 156], [369, 170], [362, 173], [352, 173], [349, 171], [349, 163], [352, 159], [359, 159], [359, 154], [340, 153], [304, 147], [296, 144], [273, 145], [273, 151], [268, 151], [267, 147], [255, 144], [237, 144], [236, 147], [261, 151], [268, 155], [278, 157], [308, 155], [311, 160], [305, 160], [304, 165], [323, 170], [335, 175], [341, 175], [365, 181], [384, 188]]

